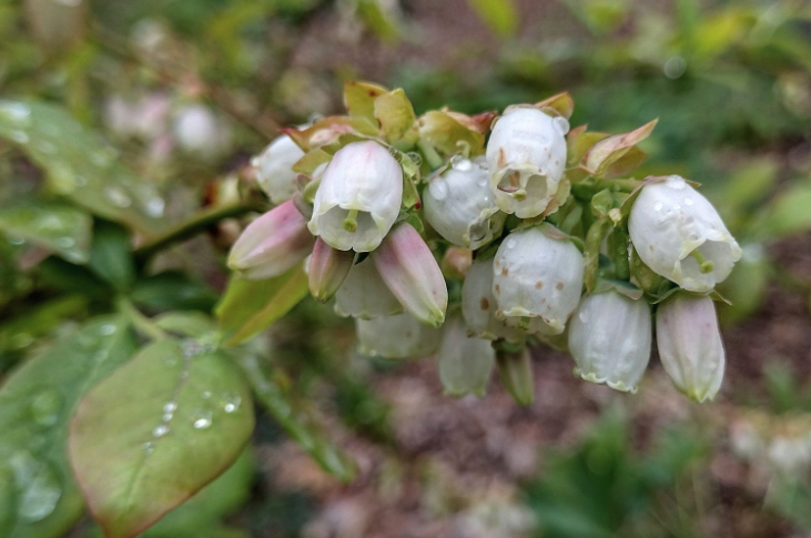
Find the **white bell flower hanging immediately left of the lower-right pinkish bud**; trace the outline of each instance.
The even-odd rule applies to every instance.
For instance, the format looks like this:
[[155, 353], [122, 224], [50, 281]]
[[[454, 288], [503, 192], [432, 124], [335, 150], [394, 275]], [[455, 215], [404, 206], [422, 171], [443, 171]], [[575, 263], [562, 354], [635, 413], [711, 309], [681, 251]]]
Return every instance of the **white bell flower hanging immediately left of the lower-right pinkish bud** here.
[[576, 374], [591, 383], [636, 393], [650, 359], [650, 306], [614, 290], [580, 302], [569, 322]]

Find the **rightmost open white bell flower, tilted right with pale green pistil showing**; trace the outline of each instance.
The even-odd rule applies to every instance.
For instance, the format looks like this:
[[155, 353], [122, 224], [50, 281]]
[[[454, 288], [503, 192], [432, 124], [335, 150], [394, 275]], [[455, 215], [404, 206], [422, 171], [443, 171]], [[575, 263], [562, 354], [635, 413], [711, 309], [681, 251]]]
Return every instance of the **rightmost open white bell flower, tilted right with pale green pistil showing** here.
[[678, 175], [642, 187], [628, 231], [642, 262], [692, 292], [712, 290], [741, 257], [712, 204]]

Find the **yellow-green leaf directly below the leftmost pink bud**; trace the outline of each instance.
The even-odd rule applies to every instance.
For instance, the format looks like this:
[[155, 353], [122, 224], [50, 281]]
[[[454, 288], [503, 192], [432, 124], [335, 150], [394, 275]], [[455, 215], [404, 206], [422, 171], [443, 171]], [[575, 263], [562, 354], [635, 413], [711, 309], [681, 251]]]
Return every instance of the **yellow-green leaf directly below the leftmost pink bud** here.
[[239, 345], [270, 327], [310, 293], [301, 264], [264, 281], [232, 277], [216, 307], [225, 345]]

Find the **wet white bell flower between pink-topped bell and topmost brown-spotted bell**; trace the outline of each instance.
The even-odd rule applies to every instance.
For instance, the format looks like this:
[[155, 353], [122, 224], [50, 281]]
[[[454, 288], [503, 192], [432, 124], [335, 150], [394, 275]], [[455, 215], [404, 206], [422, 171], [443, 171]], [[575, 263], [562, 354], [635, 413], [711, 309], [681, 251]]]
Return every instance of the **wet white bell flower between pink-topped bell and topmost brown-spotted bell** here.
[[484, 156], [462, 159], [423, 191], [425, 220], [455, 245], [476, 250], [501, 231]]

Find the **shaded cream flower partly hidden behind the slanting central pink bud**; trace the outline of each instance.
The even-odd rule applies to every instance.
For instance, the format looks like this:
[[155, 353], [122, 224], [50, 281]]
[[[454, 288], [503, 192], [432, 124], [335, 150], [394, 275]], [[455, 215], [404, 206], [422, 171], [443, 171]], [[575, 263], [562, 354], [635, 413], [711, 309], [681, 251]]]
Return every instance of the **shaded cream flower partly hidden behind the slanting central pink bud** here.
[[402, 312], [403, 305], [388, 290], [369, 258], [352, 266], [335, 294], [335, 313], [339, 316], [372, 319]]

